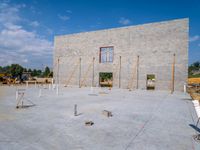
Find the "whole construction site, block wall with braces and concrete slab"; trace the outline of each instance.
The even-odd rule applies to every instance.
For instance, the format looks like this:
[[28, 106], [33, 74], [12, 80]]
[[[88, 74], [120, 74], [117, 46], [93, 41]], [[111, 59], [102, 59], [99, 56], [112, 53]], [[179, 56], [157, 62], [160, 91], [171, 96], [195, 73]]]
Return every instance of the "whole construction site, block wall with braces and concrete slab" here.
[[0, 149], [199, 150], [188, 32], [186, 18], [56, 36], [52, 79], [0, 86]]

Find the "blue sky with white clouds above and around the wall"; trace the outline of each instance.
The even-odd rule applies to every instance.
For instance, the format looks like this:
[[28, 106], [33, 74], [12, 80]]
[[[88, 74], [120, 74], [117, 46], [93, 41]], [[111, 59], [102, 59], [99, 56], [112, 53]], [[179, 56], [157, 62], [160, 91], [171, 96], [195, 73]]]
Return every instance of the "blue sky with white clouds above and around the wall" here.
[[200, 61], [200, 0], [0, 0], [0, 65], [52, 67], [55, 35], [190, 19], [189, 64]]

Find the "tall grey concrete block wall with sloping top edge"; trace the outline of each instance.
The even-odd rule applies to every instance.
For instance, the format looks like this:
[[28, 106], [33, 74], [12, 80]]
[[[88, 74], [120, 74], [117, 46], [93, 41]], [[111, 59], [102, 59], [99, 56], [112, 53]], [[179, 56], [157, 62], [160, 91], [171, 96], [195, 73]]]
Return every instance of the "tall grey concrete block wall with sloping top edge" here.
[[[71, 78], [68, 84], [78, 86], [81, 76], [80, 81], [85, 79], [83, 84], [91, 86], [93, 74], [91, 63], [95, 57], [94, 84], [99, 83], [99, 72], [113, 72], [113, 86], [119, 87], [119, 56], [121, 56], [121, 88], [131, 86], [134, 89], [138, 81], [138, 88], [146, 89], [147, 74], [155, 74], [155, 88], [170, 90], [175, 54], [175, 90], [183, 91], [188, 74], [188, 32], [189, 21], [186, 18], [56, 36], [54, 78], [61, 84], [65, 84]], [[114, 61], [99, 63], [100, 47], [107, 46], [114, 47]]]

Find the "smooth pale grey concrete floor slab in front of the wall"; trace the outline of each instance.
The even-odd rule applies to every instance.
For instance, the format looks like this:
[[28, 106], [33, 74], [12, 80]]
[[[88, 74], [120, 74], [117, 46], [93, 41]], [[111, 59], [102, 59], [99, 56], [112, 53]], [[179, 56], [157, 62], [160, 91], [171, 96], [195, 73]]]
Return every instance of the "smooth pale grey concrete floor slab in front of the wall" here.
[[[29, 87], [25, 98], [36, 106], [16, 109], [16, 87], [0, 90], [0, 149], [200, 149], [192, 138], [199, 133], [196, 114], [184, 93], [95, 89], [94, 96], [90, 88], [62, 88], [56, 95], [42, 88], [39, 97], [39, 88]], [[102, 115], [103, 110], [113, 117]], [[85, 126], [87, 120], [94, 125]]]

